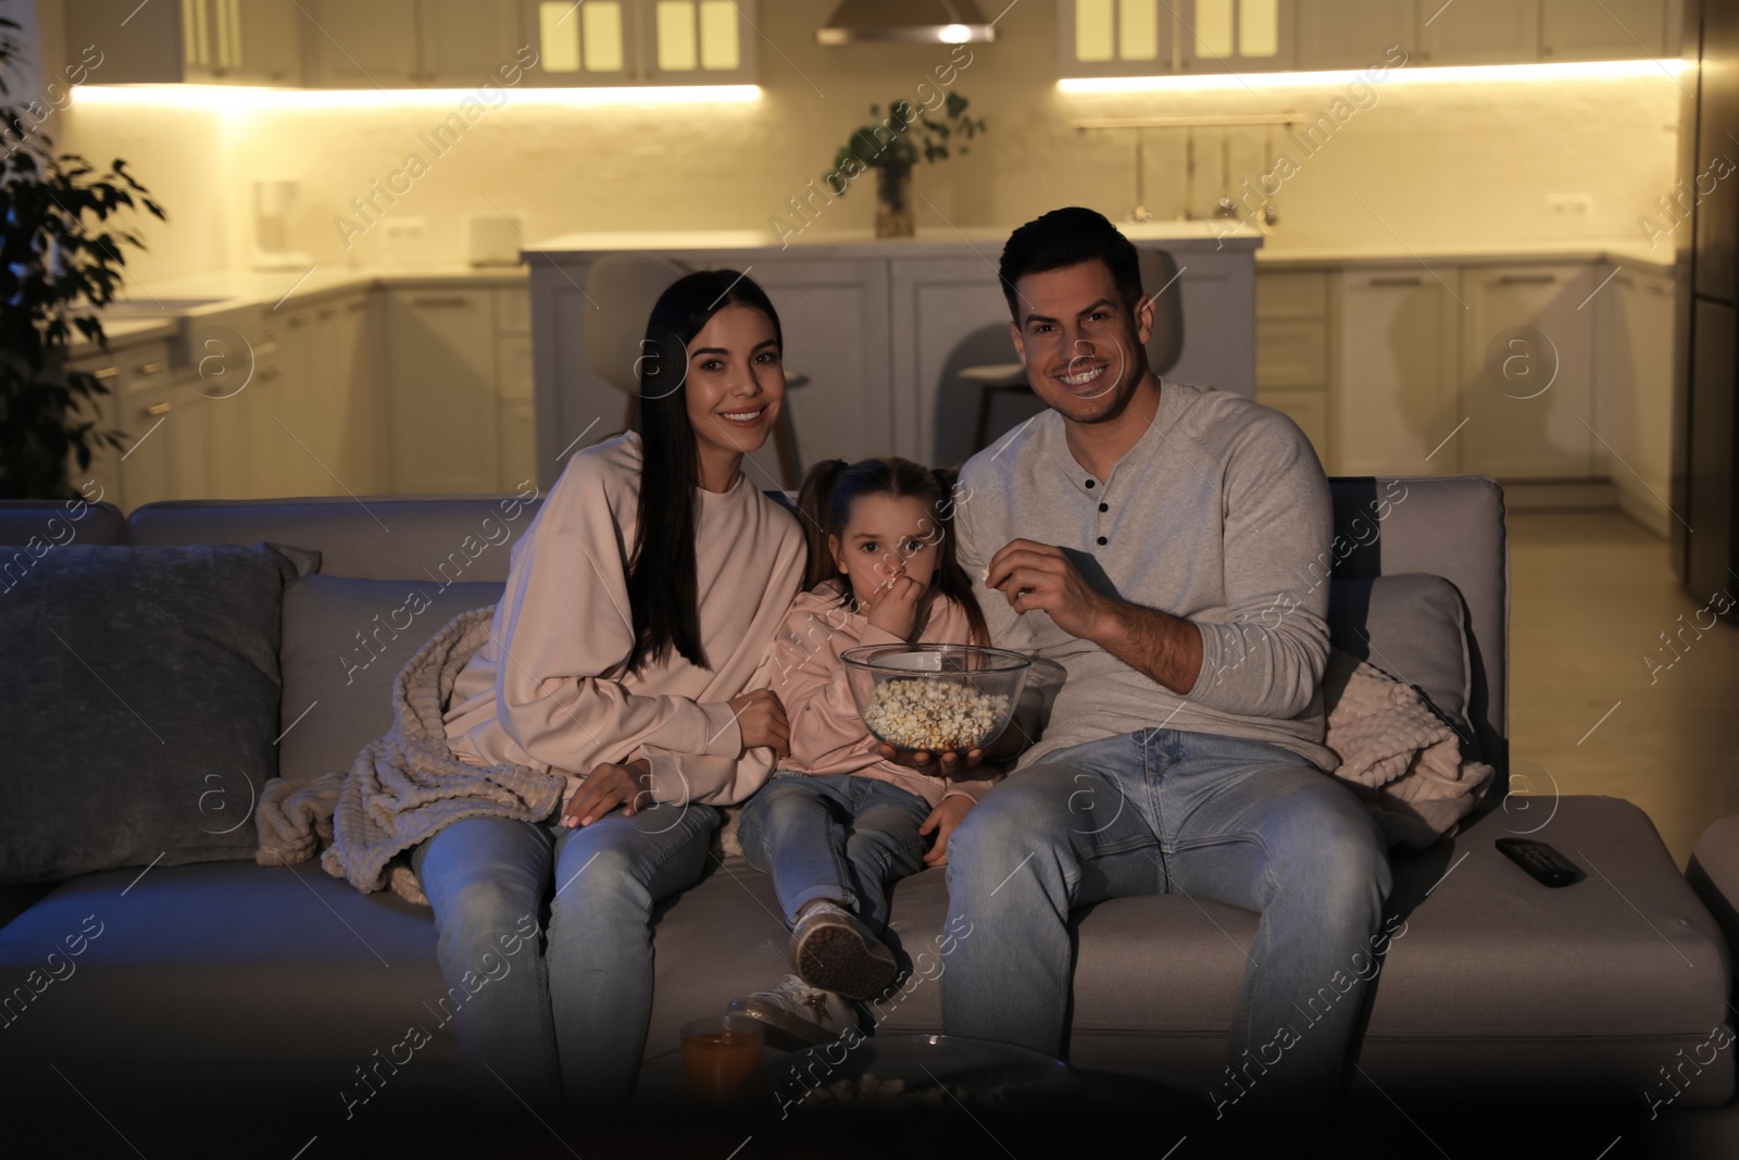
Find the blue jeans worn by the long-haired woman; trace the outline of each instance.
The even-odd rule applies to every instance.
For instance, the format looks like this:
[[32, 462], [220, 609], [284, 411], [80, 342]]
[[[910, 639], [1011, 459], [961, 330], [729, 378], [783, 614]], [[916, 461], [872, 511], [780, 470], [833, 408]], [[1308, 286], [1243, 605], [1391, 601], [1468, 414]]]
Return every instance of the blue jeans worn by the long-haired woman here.
[[718, 810], [694, 803], [572, 830], [466, 817], [416, 847], [482, 1096], [551, 1110], [628, 1097], [652, 1016], [652, 908], [699, 878], [716, 826]]

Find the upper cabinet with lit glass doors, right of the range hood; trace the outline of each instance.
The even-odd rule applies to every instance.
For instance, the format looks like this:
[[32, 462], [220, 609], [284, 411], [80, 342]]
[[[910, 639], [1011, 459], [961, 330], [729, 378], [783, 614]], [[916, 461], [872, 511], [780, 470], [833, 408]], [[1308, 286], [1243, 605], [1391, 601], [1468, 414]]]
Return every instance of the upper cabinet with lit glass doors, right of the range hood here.
[[1292, 68], [1294, 0], [1061, 0], [1063, 77]]

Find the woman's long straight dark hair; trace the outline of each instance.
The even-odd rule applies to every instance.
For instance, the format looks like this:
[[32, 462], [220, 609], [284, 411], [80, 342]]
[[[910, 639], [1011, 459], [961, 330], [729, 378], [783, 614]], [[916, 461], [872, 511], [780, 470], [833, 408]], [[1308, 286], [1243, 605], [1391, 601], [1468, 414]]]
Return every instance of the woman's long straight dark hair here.
[[711, 668], [701, 647], [701, 598], [694, 574], [701, 452], [689, 424], [689, 343], [725, 306], [767, 315], [784, 348], [779, 315], [753, 280], [734, 270], [701, 270], [659, 296], [640, 344], [640, 517], [628, 557], [628, 605], [635, 647], [630, 673], [670, 659], [671, 649]]

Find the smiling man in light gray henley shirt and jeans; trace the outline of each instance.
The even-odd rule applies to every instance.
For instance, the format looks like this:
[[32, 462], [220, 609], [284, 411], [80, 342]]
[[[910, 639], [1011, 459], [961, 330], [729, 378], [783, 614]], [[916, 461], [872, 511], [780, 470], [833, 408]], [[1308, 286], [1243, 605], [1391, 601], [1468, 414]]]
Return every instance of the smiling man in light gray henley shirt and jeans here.
[[1214, 1099], [1327, 1106], [1389, 890], [1374, 819], [1323, 774], [1329, 482], [1280, 412], [1153, 376], [1153, 299], [1101, 214], [1021, 226], [1000, 273], [1049, 410], [962, 471], [960, 562], [993, 643], [1066, 678], [949, 842], [949, 925], [972, 936], [943, 1026], [1059, 1056], [1071, 910], [1229, 903], [1261, 923]]

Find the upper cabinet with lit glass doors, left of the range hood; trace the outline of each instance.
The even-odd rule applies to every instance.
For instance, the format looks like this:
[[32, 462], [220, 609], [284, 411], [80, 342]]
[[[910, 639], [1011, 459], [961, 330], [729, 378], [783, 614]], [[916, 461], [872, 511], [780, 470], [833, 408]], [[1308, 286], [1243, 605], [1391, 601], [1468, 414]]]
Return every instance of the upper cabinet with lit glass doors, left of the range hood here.
[[755, 83], [751, 0], [520, 0], [527, 83]]

